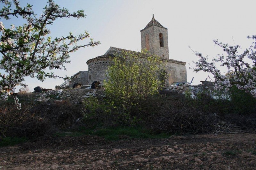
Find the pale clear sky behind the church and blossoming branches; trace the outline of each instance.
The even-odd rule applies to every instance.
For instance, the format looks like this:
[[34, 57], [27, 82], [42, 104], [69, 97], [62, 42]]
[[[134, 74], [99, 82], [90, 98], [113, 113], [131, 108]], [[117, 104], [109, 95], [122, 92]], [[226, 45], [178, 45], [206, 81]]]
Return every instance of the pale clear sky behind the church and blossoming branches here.
[[[20, 2], [33, 5], [38, 15], [47, 4], [46, 0]], [[247, 35], [256, 34], [255, 0], [55, 0], [55, 3], [68, 8], [70, 12], [83, 9], [87, 17], [56, 20], [49, 27], [52, 37], [68, 35], [69, 32], [78, 35], [87, 30], [95, 41], [101, 43], [72, 53], [71, 63], [66, 64], [67, 71], [55, 71], [55, 74], [63, 77], [88, 70], [86, 61], [103, 55], [111, 46], [140, 51], [140, 30], [151, 20], [153, 8], [155, 19], [168, 28], [170, 59], [187, 62], [187, 80], [190, 82], [194, 77], [194, 85], [200, 84], [208, 75], [211, 78], [213, 76], [189, 69], [189, 64], [197, 61], [198, 57], [188, 46], [212, 58], [223, 53], [221, 48], [214, 46], [212, 40], [219, 39], [230, 45], [241, 45], [245, 49], [252, 43], [252, 40], [246, 38]], [[15, 18], [1, 21], [6, 27], [22, 24], [22, 20]], [[62, 79], [49, 78], [44, 82], [36, 78], [26, 78], [25, 81], [32, 91], [36, 86], [54, 89], [55, 85], [63, 82]]]

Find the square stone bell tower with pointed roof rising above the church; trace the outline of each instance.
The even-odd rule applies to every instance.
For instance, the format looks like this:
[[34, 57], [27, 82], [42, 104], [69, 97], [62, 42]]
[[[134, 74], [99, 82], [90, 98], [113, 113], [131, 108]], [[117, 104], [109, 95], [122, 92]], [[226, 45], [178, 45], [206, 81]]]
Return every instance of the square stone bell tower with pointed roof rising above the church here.
[[141, 49], [147, 49], [151, 54], [169, 59], [167, 28], [154, 17], [148, 25], [140, 30]]

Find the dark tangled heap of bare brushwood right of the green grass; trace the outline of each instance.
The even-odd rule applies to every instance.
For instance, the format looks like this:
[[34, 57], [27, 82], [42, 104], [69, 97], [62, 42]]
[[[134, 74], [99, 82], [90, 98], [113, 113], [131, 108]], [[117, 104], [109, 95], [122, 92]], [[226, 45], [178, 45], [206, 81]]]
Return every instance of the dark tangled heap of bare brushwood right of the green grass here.
[[175, 105], [164, 107], [151, 119], [154, 132], [196, 134], [212, 132], [215, 115], [204, 114], [193, 107]]

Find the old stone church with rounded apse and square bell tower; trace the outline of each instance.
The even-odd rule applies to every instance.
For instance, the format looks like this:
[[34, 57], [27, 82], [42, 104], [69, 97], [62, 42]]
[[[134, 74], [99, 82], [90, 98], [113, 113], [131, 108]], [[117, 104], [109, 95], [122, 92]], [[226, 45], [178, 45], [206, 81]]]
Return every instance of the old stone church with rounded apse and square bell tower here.
[[[165, 85], [170, 85], [176, 81], [187, 81], [186, 63], [169, 58], [167, 28], [162, 26], [154, 15], [148, 25], [140, 30], [140, 35], [141, 49], [146, 48], [151, 54], [158, 55], [160, 57], [159, 60], [165, 63], [165, 71], [167, 72]], [[86, 62], [88, 71], [80, 71], [84, 76], [77, 73], [72, 76], [69, 87], [72, 87], [75, 82], [83, 82], [83, 85], [91, 85], [94, 81], [102, 83], [104, 79], [107, 79], [106, 71], [108, 66], [113, 63], [111, 57], [114, 57], [116, 53], [122, 50], [126, 49], [110, 47], [104, 55], [88, 60]]]

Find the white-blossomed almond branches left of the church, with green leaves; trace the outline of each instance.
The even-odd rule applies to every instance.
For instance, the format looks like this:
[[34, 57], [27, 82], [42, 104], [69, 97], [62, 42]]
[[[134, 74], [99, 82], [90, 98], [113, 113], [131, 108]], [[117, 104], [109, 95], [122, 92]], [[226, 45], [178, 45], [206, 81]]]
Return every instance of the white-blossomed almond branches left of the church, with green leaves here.
[[[12, 25], [5, 28], [0, 21], [0, 100], [7, 100], [7, 91], [12, 90], [16, 85], [23, 84], [24, 78], [36, 77], [40, 81], [48, 78], [61, 78], [46, 69], [64, 69], [65, 63], [69, 63], [69, 54], [79, 48], [98, 45], [99, 42], [90, 41], [85, 45], [78, 42], [89, 38], [87, 31], [74, 36], [69, 33], [67, 36], [52, 39], [49, 34], [48, 25], [52, 25], [57, 18], [84, 18], [86, 15], [83, 10], [69, 13], [68, 9], [60, 8], [52, 0], [44, 7], [40, 16], [36, 16], [32, 6], [27, 4], [21, 7], [18, 0], [0, 0], [2, 10], [0, 18], [10, 19], [10, 17], [23, 18], [26, 23], [22, 26]], [[67, 77], [66, 77], [67, 78]], [[65, 79], [65, 78], [64, 78]], [[15, 97], [15, 104], [20, 109], [20, 103]]]

